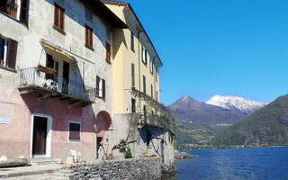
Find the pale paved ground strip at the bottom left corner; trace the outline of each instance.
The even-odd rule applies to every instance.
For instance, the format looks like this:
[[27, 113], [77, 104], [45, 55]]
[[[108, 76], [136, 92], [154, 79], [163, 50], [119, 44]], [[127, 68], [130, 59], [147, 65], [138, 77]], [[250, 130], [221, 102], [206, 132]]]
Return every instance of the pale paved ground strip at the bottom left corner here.
[[61, 173], [48, 173], [48, 174], [41, 174], [41, 175], [23, 175], [23, 176], [17, 176], [17, 177], [8, 177], [4, 179], [7, 179], [7, 180], [69, 180], [69, 177], [65, 177]]

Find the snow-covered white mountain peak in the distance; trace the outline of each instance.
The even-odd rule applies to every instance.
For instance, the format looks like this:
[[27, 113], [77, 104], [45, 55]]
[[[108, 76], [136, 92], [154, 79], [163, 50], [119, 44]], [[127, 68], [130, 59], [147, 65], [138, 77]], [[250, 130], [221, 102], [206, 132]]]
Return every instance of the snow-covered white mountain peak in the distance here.
[[266, 103], [259, 103], [257, 101], [251, 101], [243, 97], [231, 95], [214, 95], [206, 103], [233, 111], [239, 111], [244, 114], [256, 112], [258, 109], [266, 105]]

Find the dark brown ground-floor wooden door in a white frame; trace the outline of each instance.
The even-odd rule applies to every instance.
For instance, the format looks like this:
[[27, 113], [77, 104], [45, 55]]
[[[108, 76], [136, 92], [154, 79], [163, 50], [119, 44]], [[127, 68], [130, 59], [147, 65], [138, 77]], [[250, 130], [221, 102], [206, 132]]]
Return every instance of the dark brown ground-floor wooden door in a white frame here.
[[34, 116], [33, 126], [33, 155], [46, 154], [46, 139], [47, 139], [47, 118]]

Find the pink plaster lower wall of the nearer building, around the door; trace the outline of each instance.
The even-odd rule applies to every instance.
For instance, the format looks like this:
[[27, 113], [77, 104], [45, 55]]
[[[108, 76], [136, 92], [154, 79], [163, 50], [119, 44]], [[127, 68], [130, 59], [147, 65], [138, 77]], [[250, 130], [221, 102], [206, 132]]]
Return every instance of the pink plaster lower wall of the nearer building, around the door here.
[[[96, 133], [92, 105], [68, 107], [67, 101], [58, 98], [39, 100], [34, 93], [20, 95], [18, 89], [0, 85], [0, 111], [4, 104], [12, 104], [14, 116], [11, 124], [0, 124], [0, 156], [30, 157], [31, 113], [42, 113], [53, 118], [51, 157], [65, 161], [69, 150], [74, 149], [81, 152], [84, 160], [94, 160]], [[81, 121], [81, 142], [67, 142], [68, 121]]]

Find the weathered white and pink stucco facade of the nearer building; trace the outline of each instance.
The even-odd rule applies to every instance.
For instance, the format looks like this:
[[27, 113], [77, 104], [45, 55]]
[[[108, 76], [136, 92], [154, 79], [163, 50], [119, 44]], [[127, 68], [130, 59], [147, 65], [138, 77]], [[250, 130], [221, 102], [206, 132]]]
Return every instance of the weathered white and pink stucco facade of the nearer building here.
[[[21, 2], [19, 8], [23, 8]], [[112, 65], [106, 60], [106, 43], [113, 44], [113, 29], [125, 25], [111, 12], [109, 18], [101, 16], [103, 12], [95, 15], [97, 9], [89, 6], [91, 1], [83, 2], [28, 1], [28, 23], [20, 22], [19, 15], [17, 19], [0, 12], [0, 27], [5, 27], [0, 29], [1, 40], [18, 43], [15, 67], [8, 66], [8, 58], [0, 66], [0, 155], [36, 157], [32, 152], [33, 130], [36, 119], [44, 118], [47, 137], [41, 157], [65, 161], [70, 150], [75, 150], [82, 160], [96, 158], [97, 133], [103, 131], [96, 119], [112, 120]], [[62, 31], [55, 27], [56, 4], [65, 10], [58, 20], [64, 18]], [[115, 22], [121, 25], [112, 25]], [[93, 48], [85, 46], [86, 26], [93, 29]], [[57, 67], [56, 80], [40, 71], [39, 64], [47, 66], [49, 55], [55, 62], [54, 70]], [[97, 87], [96, 76], [105, 83]], [[78, 140], [69, 140], [70, 123], [79, 124]]]

